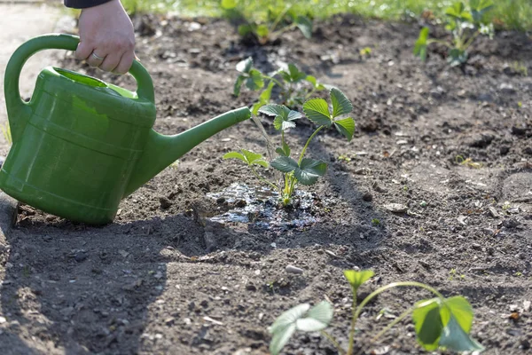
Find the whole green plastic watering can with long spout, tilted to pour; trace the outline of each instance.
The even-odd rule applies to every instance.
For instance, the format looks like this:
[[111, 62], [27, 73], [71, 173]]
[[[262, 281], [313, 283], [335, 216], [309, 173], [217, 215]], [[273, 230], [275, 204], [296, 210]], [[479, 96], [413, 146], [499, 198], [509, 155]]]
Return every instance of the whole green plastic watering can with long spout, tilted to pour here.
[[152, 127], [152, 78], [135, 61], [137, 92], [87, 75], [46, 67], [35, 92], [20, 99], [20, 71], [37, 51], [75, 51], [79, 38], [39, 36], [15, 51], [5, 71], [12, 148], [0, 188], [19, 201], [91, 225], [113, 221], [124, 197], [205, 139], [250, 117], [241, 107], [176, 136]]

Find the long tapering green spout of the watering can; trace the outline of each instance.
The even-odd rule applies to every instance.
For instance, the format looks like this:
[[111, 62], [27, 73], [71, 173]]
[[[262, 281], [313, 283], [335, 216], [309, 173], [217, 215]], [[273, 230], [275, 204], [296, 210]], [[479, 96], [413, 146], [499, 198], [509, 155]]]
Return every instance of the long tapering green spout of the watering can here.
[[135, 165], [135, 170], [131, 174], [123, 197], [136, 191], [161, 170], [191, 151], [194, 146], [198, 146], [207, 138], [231, 127], [233, 124], [246, 121], [249, 117], [251, 117], [249, 108], [240, 107], [175, 136], [163, 136], [151, 130], [145, 149]]

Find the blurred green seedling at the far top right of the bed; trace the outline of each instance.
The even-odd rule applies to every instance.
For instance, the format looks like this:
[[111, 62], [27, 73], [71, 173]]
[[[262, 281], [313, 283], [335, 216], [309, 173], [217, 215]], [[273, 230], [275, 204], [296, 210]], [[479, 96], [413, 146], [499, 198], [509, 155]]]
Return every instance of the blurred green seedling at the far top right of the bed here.
[[445, 28], [450, 31], [452, 40], [429, 39], [428, 28], [423, 28], [414, 46], [414, 55], [425, 61], [426, 47], [431, 43], [441, 43], [449, 49], [448, 62], [451, 67], [464, 65], [467, 61], [467, 50], [477, 36], [493, 37], [493, 23], [486, 19], [487, 12], [493, 7], [491, 0], [469, 0], [469, 9], [466, 9], [461, 1], [454, 3], [445, 12], [448, 17]]

